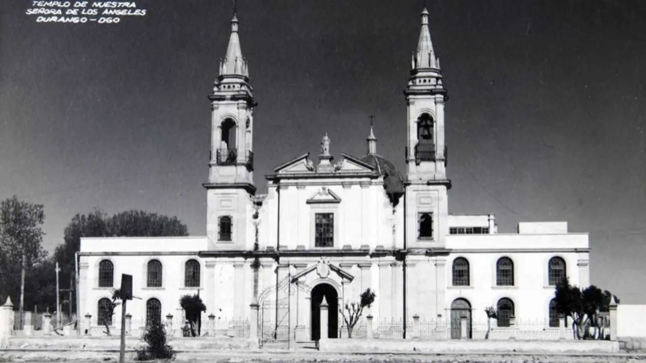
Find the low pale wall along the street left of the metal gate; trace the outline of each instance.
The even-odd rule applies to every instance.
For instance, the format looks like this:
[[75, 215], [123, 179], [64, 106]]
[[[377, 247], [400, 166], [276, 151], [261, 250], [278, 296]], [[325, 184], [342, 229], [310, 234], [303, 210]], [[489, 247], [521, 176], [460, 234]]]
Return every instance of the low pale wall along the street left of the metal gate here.
[[[68, 349], [78, 350], [112, 350], [120, 349], [120, 337], [11, 337], [6, 349]], [[138, 337], [126, 337], [127, 350], [144, 346]], [[168, 344], [178, 351], [196, 351], [209, 349], [254, 349], [258, 344], [246, 338], [169, 338]]]

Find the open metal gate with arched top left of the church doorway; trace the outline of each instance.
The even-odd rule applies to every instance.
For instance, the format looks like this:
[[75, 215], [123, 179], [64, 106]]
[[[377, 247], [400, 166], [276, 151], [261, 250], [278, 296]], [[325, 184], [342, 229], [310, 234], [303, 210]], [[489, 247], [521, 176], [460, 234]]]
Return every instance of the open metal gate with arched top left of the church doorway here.
[[295, 293], [291, 276], [282, 280], [273, 296], [267, 296], [258, 307], [258, 338], [260, 347], [289, 349], [291, 334], [289, 307]]

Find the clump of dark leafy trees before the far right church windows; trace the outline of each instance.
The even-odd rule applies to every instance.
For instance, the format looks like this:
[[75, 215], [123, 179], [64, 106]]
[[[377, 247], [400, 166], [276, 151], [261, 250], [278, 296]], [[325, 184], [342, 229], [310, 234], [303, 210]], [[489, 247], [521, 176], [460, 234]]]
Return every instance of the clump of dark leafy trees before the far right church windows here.
[[[577, 339], [603, 339], [603, 325], [599, 313], [609, 311], [613, 298], [610, 291], [601, 291], [595, 285], [583, 289], [570, 285], [567, 277], [556, 284], [556, 310], [572, 319], [572, 331]], [[594, 333], [590, 335], [590, 328]]]

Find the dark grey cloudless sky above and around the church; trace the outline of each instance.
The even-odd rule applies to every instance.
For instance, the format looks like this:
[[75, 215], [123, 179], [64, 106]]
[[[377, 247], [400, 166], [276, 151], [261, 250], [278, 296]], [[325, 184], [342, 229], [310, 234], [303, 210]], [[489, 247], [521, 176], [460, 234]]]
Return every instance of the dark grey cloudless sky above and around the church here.
[[[44, 205], [52, 251], [98, 207], [178, 216], [205, 234], [207, 99], [229, 0], [136, 1], [118, 24], [37, 23], [0, 0], [0, 198]], [[646, 303], [646, 2], [428, 0], [441, 59], [452, 214], [567, 221], [590, 233], [590, 279]], [[240, 0], [255, 111], [255, 183], [327, 132], [331, 153], [405, 171], [422, 1]]]

